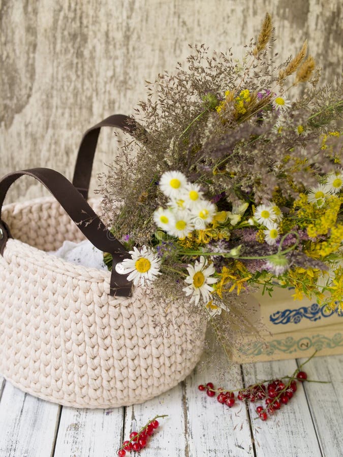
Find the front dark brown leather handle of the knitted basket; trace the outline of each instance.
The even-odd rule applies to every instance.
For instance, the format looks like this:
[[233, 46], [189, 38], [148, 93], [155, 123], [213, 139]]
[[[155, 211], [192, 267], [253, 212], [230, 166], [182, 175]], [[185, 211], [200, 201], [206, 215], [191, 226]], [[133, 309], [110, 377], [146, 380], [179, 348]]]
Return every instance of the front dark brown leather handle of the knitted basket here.
[[116, 272], [115, 265], [124, 258], [130, 258], [130, 255], [122, 244], [113, 237], [111, 232], [107, 230], [99, 216], [91, 209], [73, 184], [55, 170], [48, 168], [22, 170], [9, 173], [0, 180], [0, 254], [4, 254], [8, 238], [12, 238], [9, 227], [1, 218], [3, 203], [10, 186], [23, 175], [32, 176], [40, 181], [66, 210], [83, 235], [96, 248], [112, 254], [113, 267], [110, 295], [129, 297], [131, 294], [131, 282], [128, 281], [127, 275], [121, 275]]

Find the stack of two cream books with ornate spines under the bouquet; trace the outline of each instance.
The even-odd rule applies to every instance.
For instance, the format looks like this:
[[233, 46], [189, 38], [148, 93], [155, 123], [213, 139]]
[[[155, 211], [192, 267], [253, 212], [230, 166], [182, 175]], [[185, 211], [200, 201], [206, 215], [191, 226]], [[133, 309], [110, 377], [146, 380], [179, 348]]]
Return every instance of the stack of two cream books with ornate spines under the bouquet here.
[[292, 291], [277, 289], [273, 298], [254, 293], [249, 306], [252, 323], [262, 322], [259, 336], [247, 335], [232, 354], [235, 362], [259, 362], [343, 354], [343, 314], [314, 301], [293, 300]]

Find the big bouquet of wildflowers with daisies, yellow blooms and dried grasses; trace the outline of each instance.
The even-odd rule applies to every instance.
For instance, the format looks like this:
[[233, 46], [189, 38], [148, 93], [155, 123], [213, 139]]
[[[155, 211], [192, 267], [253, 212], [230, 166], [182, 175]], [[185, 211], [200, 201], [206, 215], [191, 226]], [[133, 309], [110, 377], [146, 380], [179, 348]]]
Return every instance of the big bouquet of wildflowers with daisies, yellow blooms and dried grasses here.
[[342, 303], [341, 85], [319, 86], [306, 42], [277, 66], [273, 40], [267, 14], [242, 61], [195, 46], [148, 83], [142, 127], [102, 177], [121, 271], [210, 316], [257, 286]]

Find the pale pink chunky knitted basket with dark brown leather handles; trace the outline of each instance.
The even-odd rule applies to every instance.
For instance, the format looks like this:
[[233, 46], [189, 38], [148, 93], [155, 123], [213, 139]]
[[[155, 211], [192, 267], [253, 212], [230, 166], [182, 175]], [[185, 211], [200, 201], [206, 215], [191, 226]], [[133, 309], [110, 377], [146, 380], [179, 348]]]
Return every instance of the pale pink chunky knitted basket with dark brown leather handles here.
[[[129, 295], [131, 284], [123, 275], [118, 280], [115, 268], [85, 268], [48, 254], [65, 240], [87, 237], [111, 252], [114, 263], [127, 256], [105, 227], [100, 230], [82, 195], [52, 170], [3, 178], [0, 210], [7, 189], [23, 174], [45, 184], [64, 208], [49, 197], [2, 210], [0, 373], [36, 397], [86, 408], [141, 403], [175, 386], [200, 357], [200, 317], [185, 303], [161, 307], [139, 287]], [[91, 223], [80, 223], [85, 212]]]

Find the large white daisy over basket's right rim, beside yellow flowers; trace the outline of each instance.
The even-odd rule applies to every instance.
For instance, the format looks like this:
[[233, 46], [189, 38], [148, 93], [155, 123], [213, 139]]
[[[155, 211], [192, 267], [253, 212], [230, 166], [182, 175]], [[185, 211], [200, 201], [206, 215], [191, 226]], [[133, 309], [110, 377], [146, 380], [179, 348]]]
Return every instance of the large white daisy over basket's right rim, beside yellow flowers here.
[[187, 271], [189, 276], [184, 281], [189, 285], [182, 289], [186, 297], [191, 295], [191, 302], [194, 301], [197, 305], [201, 295], [204, 303], [208, 303], [211, 299], [211, 292], [213, 292], [213, 287], [210, 284], [217, 282], [216, 278], [211, 277], [215, 268], [213, 265], [207, 266], [207, 260], [202, 255], [199, 261], [196, 260], [194, 267], [192, 265], [187, 267]]

